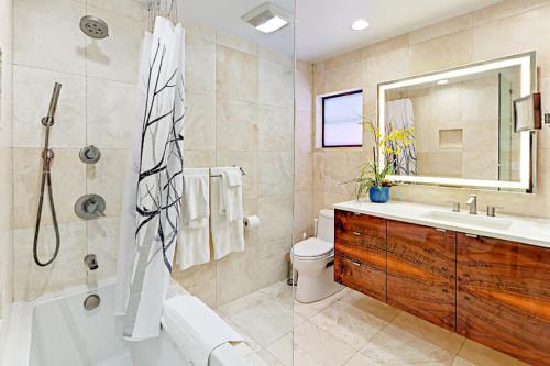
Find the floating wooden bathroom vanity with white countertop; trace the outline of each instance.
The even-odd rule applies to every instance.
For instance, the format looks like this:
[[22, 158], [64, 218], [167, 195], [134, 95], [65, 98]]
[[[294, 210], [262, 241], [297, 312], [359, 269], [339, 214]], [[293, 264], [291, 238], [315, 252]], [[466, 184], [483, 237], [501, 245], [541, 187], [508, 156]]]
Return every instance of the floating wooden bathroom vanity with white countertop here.
[[532, 365], [550, 365], [550, 221], [338, 203], [334, 279]]

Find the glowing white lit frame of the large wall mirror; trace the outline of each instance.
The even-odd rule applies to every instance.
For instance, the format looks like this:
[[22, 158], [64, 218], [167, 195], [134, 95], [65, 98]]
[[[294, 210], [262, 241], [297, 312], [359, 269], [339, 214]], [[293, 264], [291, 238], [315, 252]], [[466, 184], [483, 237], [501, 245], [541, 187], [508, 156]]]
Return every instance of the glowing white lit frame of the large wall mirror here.
[[[536, 52], [528, 52], [518, 55], [496, 58], [493, 60], [469, 64], [455, 68], [443, 69], [439, 71], [417, 75], [404, 79], [386, 81], [378, 84], [378, 109], [377, 122], [381, 134], [385, 134], [385, 104], [386, 91], [414, 85], [433, 82], [440, 79], [452, 79], [453, 77], [475, 75], [488, 70], [495, 70], [504, 67], [519, 66], [520, 67], [520, 97], [530, 96], [537, 90], [537, 66]], [[475, 187], [475, 188], [492, 188], [492, 189], [513, 189], [525, 192], [535, 191], [535, 166], [536, 166], [536, 138], [535, 132], [520, 132], [519, 145], [519, 181], [506, 180], [485, 180], [485, 179], [466, 179], [466, 178], [448, 178], [448, 177], [428, 177], [428, 176], [399, 176], [388, 175], [387, 179], [395, 182], [437, 185], [451, 187]], [[380, 154], [381, 166], [385, 165], [385, 154]]]

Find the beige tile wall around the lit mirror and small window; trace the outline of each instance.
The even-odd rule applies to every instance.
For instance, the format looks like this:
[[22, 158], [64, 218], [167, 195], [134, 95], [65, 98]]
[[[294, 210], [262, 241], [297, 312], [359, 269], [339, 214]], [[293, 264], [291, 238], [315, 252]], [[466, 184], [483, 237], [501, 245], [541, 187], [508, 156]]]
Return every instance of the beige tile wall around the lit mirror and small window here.
[[[508, 0], [314, 65], [315, 95], [363, 88], [364, 111], [376, 118], [376, 85], [420, 73], [460, 66], [510, 54], [537, 51], [543, 106], [550, 106], [550, 1]], [[370, 138], [369, 135], [364, 137]], [[502, 206], [503, 212], [550, 218], [550, 129], [538, 132], [538, 191], [520, 195], [427, 186], [393, 188], [395, 199], [435, 204], [480, 196], [480, 207]], [[351, 198], [344, 182], [370, 156], [363, 149], [316, 149], [314, 209]]]

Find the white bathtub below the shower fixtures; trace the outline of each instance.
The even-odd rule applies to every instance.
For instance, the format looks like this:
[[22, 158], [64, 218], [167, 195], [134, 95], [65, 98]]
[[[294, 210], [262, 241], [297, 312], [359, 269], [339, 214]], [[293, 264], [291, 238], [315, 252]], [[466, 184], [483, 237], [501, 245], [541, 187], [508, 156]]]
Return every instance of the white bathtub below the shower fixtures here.
[[[4, 322], [3, 366], [193, 366], [170, 336], [128, 342], [120, 319], [113, 315], [114, 284], [107, 281], [98, 291], [101, 304], [84, 309], [86, 287], [44, 296], [12, 306]], [[210, 356], [209, 366], [242, 366], [240, 347], [224, 344]]]

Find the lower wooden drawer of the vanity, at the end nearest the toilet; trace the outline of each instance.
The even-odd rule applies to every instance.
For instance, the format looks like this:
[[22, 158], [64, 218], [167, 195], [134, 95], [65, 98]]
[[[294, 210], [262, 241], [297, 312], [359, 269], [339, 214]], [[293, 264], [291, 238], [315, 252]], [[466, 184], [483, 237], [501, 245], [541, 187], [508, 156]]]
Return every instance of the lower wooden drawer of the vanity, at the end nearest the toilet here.
[[383, 270], [336, 255], [334, 280], [366, 296], [386, 301], [386, 273]]

